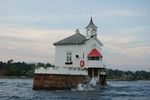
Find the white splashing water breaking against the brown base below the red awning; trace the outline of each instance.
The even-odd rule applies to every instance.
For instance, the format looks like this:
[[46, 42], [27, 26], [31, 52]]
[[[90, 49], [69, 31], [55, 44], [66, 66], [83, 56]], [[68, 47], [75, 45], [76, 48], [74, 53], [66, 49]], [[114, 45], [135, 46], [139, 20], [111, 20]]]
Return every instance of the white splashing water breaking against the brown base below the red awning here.
[[85, 84], [79, 83], [76, 88], [71, 89], [72, 91], [89, 91], [89, 90], [95, 90], [97, 86], [98, 78], [94, 77], [90, 81], [88, 81]]

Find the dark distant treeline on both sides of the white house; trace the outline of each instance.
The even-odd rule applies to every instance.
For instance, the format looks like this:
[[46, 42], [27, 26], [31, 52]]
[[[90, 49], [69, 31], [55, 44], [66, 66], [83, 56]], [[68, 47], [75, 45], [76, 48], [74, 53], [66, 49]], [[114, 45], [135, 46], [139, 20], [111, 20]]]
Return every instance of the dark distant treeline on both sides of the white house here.
[[[33, 77], [34, 69], [41, 66], [45, 68], [54, 67], [50, 63], [27, 64], [25, 62], [13, 62], [13, 60], [0, 61], [0, 75]], [[112, 80], [150, 80], [150, 72], [143, 70], [132, 72], [106, 69], [106, 72], [107, 78]]]

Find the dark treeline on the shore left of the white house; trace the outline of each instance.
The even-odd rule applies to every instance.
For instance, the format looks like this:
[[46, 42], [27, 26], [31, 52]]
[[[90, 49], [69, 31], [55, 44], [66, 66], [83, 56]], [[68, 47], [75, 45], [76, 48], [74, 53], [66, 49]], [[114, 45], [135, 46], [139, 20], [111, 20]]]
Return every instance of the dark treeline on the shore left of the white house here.
[[33, 77], [34, 69], [40, 66], [54, 67], [54, 65], [49, 63], [27, 64], [25, 62], [13, 62], [13, 60], [9, 60], [7, 62], [0, 61], [0, 75]]

